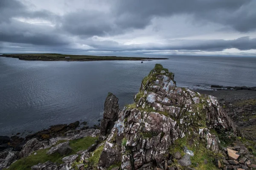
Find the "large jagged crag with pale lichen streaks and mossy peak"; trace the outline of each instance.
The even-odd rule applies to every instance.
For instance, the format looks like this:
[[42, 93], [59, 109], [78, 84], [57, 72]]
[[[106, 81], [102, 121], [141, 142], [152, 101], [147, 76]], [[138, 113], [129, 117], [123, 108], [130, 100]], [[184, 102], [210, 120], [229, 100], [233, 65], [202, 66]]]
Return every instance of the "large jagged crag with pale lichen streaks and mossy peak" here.
[[[210, 130], [230, 130], [236, 134], [235, 125], [215, 97], [177, 87], [174, 74], [161, 65], [156, 65], [143, 79], [134, 100], [133, 105], [119, 111], [118, 100], [113, 95], [106, 99], [105, 105], [114, 103], [116, 106], [105, 110], [110, 115], [106, 116], [106, 121], [113, 122], [115, 116], [111, 115], [116, 113], [118, 119], [104, 144], [100, 169], [116, 162], [121, 162], [124, 170], [136, 170], [149, 162], [165, 169], [164, 160], [169, 160], [169, 148], [177, 139], [192, 136], [217, 153], [219, 140]], [[102, 135], [107, 133], [104, 129], [110, 129], [104, 119]], [[191, 164], [188, 157], [190, 155], [186, 154], [180, 159], [184, 159], [181, 161], [184, 166]]]

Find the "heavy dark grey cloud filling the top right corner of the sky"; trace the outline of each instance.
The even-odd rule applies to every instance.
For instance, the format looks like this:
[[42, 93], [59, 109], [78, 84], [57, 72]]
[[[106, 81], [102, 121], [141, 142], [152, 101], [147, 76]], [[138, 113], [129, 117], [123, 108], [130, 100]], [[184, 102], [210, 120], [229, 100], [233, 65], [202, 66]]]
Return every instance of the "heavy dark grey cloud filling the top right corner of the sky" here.
[[125, 0], [118, 1], [116, 23], [144, 28], [152, 17], [192, 14], [195, 20], [221, 23], [238, 31], [256, 28], [254, 0]]

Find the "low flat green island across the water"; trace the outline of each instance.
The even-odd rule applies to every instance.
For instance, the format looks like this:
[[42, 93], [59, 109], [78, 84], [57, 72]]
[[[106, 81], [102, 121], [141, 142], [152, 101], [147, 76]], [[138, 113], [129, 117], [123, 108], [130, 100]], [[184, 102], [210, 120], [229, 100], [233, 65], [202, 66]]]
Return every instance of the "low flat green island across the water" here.
[[12, 57], [22, 60], [41, 61], [100, 61], [100, 60], [152, 60], [167, 58], [150, 57], [116, 57], [116, 56], [89, 56], [89, 55], [67, 55], [67, 54], [2, 54], [0, 57]]

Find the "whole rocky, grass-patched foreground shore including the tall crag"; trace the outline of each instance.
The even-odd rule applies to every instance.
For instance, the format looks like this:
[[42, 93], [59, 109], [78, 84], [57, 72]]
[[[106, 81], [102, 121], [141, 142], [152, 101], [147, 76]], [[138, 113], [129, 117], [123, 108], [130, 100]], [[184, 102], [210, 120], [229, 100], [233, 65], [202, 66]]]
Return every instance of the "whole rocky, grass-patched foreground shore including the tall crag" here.
[[20, 147], [0, 152], [0, 169], [254, 170], [255, 133], [247, 135], [237, 122], [240, 113], [254, 115], [253, 99], [234, 105], [228, 95], [206, 93], [177, 87], [174, 74], [157, 64], [133, 104], [121, 109], [108, 94], [100, 129], [76, 130], [75, 122], [27, 136]]

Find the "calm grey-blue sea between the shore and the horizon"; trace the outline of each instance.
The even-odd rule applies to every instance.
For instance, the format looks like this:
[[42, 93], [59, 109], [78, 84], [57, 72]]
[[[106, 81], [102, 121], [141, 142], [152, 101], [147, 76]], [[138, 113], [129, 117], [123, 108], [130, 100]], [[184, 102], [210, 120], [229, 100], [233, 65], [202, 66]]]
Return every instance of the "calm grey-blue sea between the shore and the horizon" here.
[[[157, 57], [157, 56], [150, 56]], [[256, 58], [158, 56], [153, 61], [23, 61], [0, 57], [0, 136], [50, 125], [98, 124], [112, 92], [123, 107], [156, 63], [175, 73], [178, 86], [256, 86]]]

